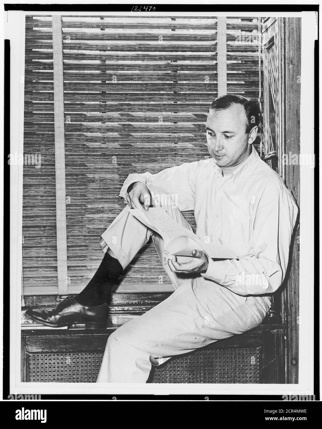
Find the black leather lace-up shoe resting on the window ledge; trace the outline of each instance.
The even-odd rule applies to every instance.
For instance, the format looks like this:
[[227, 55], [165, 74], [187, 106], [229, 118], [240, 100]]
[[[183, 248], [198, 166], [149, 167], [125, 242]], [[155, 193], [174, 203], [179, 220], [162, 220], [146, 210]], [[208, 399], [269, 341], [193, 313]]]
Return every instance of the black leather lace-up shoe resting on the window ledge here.
[[85, 329], [106, 329], [109, 307], [107, 304], [86, 307], [73, 296], [68, 296], [53, 310], [35, 308], [27, 310], [25, 314], [35, 322], [54, 328], [85, 323]]

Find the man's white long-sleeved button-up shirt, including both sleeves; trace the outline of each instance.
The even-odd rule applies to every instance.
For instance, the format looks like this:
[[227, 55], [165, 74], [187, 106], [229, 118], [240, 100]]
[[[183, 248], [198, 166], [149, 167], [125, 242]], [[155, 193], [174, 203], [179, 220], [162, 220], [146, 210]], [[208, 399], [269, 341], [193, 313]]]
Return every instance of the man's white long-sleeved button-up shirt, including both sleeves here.
[[200, 280], [213, 281], [238, 295], [272, 293], [281, 286], [289, 260], [298, 208], [283, 179], [250, 156], [222, 174], [213, 159], [184, 163], [157, 174], [130, 174], [120, 196], [133, 182], [153, 183], [173, 195], [181, 211], [194, 210], [200, 239], [231, 248], [238, 259], [209, 259]]

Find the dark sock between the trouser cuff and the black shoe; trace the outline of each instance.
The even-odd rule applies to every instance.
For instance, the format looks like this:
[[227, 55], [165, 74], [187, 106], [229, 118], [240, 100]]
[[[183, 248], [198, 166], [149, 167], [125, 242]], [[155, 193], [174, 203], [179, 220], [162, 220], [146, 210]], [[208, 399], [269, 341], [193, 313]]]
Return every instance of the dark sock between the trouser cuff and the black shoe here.
[[79, 304], [92, 307], [104, 304], [109, 299], [109, 292], [123, 271], [117, 259], [108, 253], [104, 254], [97, 271], [89, 284], [75, 297]]

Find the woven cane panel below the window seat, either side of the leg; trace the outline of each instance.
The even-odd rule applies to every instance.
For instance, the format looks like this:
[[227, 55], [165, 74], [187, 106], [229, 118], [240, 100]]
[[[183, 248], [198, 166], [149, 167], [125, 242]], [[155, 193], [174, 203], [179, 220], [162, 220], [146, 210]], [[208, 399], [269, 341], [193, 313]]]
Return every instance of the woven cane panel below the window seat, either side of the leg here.
[[[95, 383], [102, 353], [28, 353], [30, 382]], [[198, 350], [153, 370], [152, 383], [258, 383], [257, 348]]]

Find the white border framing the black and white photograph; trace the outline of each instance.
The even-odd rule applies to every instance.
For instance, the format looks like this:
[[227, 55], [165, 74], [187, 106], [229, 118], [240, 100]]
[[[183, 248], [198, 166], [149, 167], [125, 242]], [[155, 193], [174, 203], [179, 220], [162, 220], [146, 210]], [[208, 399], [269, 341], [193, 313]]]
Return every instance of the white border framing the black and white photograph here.
[[[210, 2], [207, 2], [208, 4]], [[75, 5], [73, 5], [75, 6]], [[215, 5], [214, 5], [215, 6]], [[234, 5], [227, 5], [229, 8]], [[255, 6], [255, 5], [254, 5]], [[291, 6], [291, 5], [290, 5]], [[171, 6], [170, 6], [171, 8]], [[314, 5], [312, 5], [314, 8]], [[215, 9], [215, 7], [214, 7]], [[215, 9], [216, 10], [216, 9]], [[103, 15], [127, 15], [125, 12], [103, 12]], [[131, 12], [128, 13], [130, 15]], [[164, 13], [145, 12], [162, 16]], [[187, 14], [191, 12], [186, 12]], [[208, 12], [194, 12], [196, 16]], [[215, 12], [226, 16], [274, 16], [301, 18], [301, 151], [314, 151], [314, 40], [317, 39], [316, 13], [274, 10], [264, 12]], [[38, 12], [9, 11], [5, 22], [5, 38], [11, 44], [10, 103], [11, 147], [10, 153], [23, 153], [24, 136], [24, 34], [25, 15], [102, 15], [102, 12]], [[171, 12], [184, 17], [185, 12]], [[20, 23], [17, 24], [17, 23]], [[21, 82], [22, 80], [22, 82]], [[6, 154], [4, 154], [6, 157]], [[117, 394], [198, 394], [198, 395], [312, 395], [313, 394], [313, 207], [314, 169], [301, 166], [300, 170], [300, 311], [305, 314], [299, 324], [299, 380], [298, 384], [96, 384], [96, 383], [22, 383], [21, 380], [21, 268], [22, 245], [22, 178], [23, 166], [10, 166], [10, 393], [51, 395], [117, 395]], [[316, 268], [317, 269], [317, 268]], [[309, 316], [309, 317], [307, 317]], [[4, 398], [6, 399], [6, 398]]]

